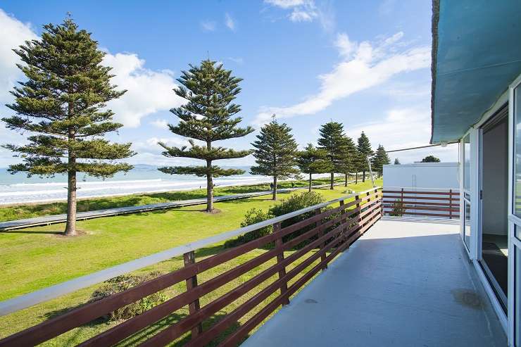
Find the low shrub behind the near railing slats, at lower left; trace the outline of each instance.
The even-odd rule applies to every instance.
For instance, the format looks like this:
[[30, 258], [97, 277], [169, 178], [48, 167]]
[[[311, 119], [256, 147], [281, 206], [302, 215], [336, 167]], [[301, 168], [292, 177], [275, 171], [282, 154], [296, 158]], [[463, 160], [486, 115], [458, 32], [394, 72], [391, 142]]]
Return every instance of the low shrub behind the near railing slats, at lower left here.
[[[103, 286], [101, 286], [99, 289], [96, 289], [96, 291], [92, 293], [89, 302], [98, 301], [102, 298], [106, 298], [107, 296], [119, 293], [120, 291], [130, 289], [133, 286], [142, 284], [143, 282], [156, 278], [159, 275], [161, 274], [159, 274], [158, 272], [151, 272], [148, 275], [122, 275], [114, 277], [106, 282], [103, 282]], [[109, 313], [103, 318], [105, 318], [106, 320], [127, 320], [134, 316], [141, 315], [146, 310], [150, 310], [154, 306], [163, 303], [164, 301], [166, 301], [166, 299], [167, 297], [164, 293], [154, 293], [142, 299], [139, 299], [134, 303], [130, 303], [129, 305], [123, 306], [122, 308], [118, 308], [117, 310]]]

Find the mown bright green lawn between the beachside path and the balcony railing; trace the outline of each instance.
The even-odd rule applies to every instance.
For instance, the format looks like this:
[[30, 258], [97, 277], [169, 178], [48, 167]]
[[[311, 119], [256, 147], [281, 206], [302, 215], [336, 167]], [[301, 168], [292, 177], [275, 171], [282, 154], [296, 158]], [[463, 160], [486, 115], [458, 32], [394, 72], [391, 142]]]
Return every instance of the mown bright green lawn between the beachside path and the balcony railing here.
[[[382, 182], [379, 181], [376, 184], [381, 185]], [[365, 184], [358, 184], [357, 186], [350, 185], [348, 188], [362, 191], [370, 189], [370, 187], [371, 183], [365, 182]], [[242, 189], [244, 187], [222, 188], [220, 194], [233, 194], [234, 190], [244, 192], [241, 191]], [[255, 188], [255, 191], [257, 190], [259, 190], [258, 187]], [[335, 187], [333, 191], [329, 189], [318, 189], [317, 191], [320, 191], [326, 200], [346, 194], [345, 187]], [[182, 194], [187, 193], [196, 194], [193, 192], [182, 192]], [[146, 198], [150, 198], [152, 195], [155, 196], [156, 194], [144, 195], [142, 199], [146, 200]], [[289, 196], [289, 194], [280, 194], [280, 198], [285, 196]], [[141, 198], [141, 196], [139, 197]], [[157, 201], [142, 203], [151, 202]], [[215, 203], [215, 208], [218, 208], [220, 213], [213, 215], [201, 212], [203, 206], [191, 206], [153, 213], [103, 217], [78, 222], [78, 229], [83, 234], [75, 237], [62, 236], [63, 225], [60, 224], [0, 232], [0, 259], [3, 265], [3, 280], [0, 282], [0, 300], [42, 289], [67, 279], [125, 263], [128, 260], [163, 251], [174, 246], [227, 232], [239, 227], [246, 210], [253, 207], [268, 209], [273, 203], [269, 196], [262, 196]], [[221, 250], [222, 244], [216, 244], [197, 251], [196, 256], [200, 259], [201, 257], [218, 253]], [[218, 273], [222, 273], [222, 271], [232, 268], [238, 263], [244, 263], [244, 261], [264, 251], [262, 249], [251, 251], [238, 259], [230, 260], [230, 262], [222, 264], [215, 269], [208, 270], [199, 276], [199, 282], [215, 277]], [[230, 282], [230, 284], [204, 296], [201, 298], [201, 305], [205, 305], [217, 296], [230, 291], [230, 289], [233, 289], [241, 282], [272, 265], [272, 262], [265, 263], [239, 277], [239, 279]], [[294, 266], [297, 264], [294, 264]], [[180, 267], [182, 267], [182, 258], [177, 257], [139, 272], [159, 271], [165, 273], [177, 270]], [[265, 285], [268, 284], [269, 282], [265, 283]], [[13, 334], [21, 329], [42, 322], [57, 312], [61, 312], [61, 310], [85, 303], [92, 291], [98, 286], [82, 289], [63, 298], [57, 298], [18, 313], [0, 317], [0, 337]], [[174, 296], [182, 291], [184, 291], [184, 283], [172, 286], [168, 289], [167, 295]], [[219, 315], [225, 315], [225, 313], [230, 312], [240, 305], [241, 302], [253, 296], [253, 294], [254, 292], [246, 294], [241, 300], [220, 311], [214, 318], [218, 319]], [[251, 317], [253, 313], [246, 315], [244, 320]], [[182, 315], [186, 314], [184, 310], [176, 311], [175, 314], [147, 329], [143, 332], [143, 335], [153, 334], [158, 329], [172, 324], [172, 322], [179, 320]], [[206, 322], [206, 324], [209, 324], [209, 322]], [[87, 326], [58, 336], [58, 338], [46, 344], [49, 346], [75, 345], [89, 336], [99, 334], [99, 332], [112, 326], [113, 323], [106, 322], [87, 324]], [[126, 341], [126, 343], [133, 345], [141, 341], [136, 339]]]

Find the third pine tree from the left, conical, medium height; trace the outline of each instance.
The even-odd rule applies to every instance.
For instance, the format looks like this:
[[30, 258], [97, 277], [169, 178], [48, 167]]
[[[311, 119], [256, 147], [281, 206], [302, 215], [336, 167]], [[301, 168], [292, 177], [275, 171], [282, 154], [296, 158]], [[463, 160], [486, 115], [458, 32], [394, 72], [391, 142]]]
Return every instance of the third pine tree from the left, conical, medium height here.
[[291, 134], [291, 127], [286, 123], [279, 124], [273, 120], [261, 127], [257, 141], [251, 144], [255, 147], [253, 156], [257, 166], [251, 167], [251, 175], [273, 177], [273, 200], [277, 200], [277, 181], [299, 173], [296, 170], [296, 141]]

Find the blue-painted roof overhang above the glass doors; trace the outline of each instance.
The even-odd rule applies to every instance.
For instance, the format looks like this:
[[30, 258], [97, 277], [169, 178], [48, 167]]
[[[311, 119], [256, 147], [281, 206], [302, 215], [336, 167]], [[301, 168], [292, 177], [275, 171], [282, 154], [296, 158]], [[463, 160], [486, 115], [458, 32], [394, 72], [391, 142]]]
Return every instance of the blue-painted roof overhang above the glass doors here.
[[432, 1], [432, 144], [463, 137], [520, 75], [520, 18], [520, 0]]

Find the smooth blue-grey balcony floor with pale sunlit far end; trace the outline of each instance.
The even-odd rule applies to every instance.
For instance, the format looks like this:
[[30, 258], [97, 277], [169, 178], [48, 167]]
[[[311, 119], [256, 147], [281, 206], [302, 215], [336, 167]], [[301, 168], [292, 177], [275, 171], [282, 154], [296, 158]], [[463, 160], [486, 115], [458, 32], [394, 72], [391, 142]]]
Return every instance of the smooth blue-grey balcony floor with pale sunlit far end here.
[[506, 346], [449, 221], [384, 217], [242, 346]]

